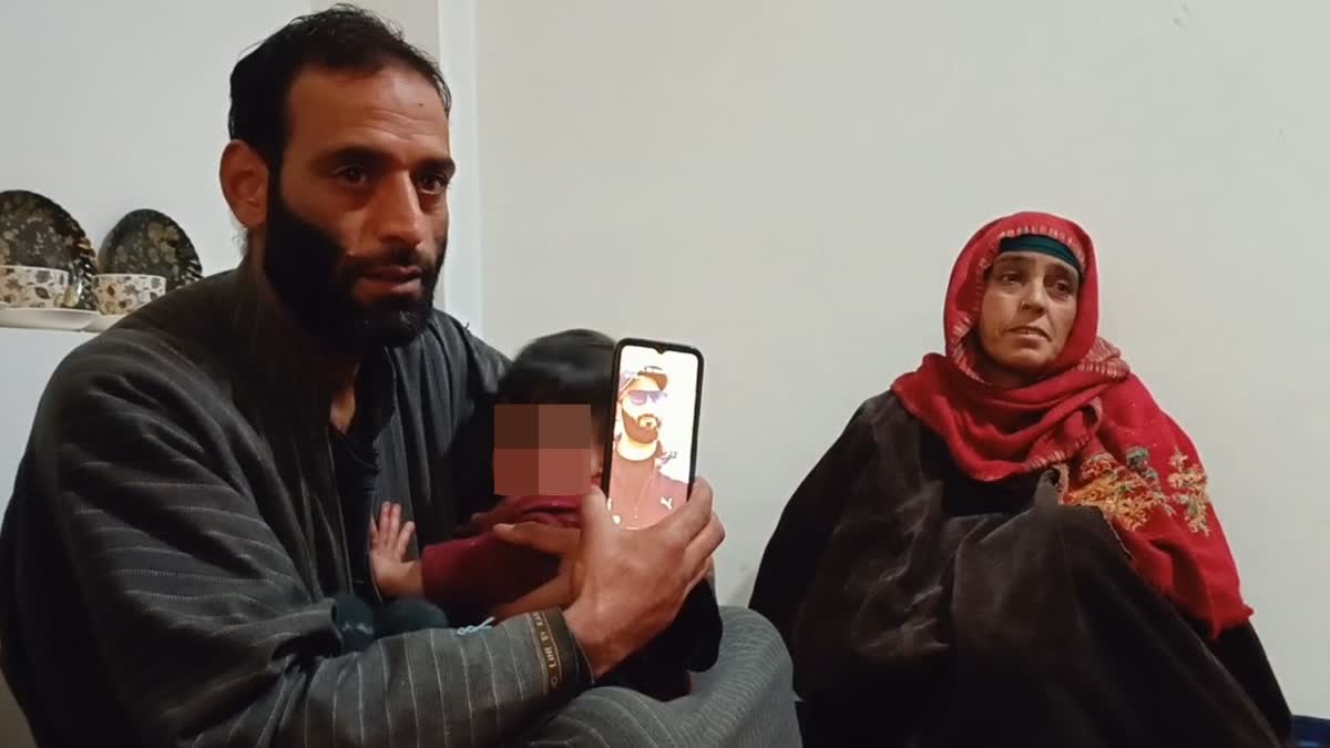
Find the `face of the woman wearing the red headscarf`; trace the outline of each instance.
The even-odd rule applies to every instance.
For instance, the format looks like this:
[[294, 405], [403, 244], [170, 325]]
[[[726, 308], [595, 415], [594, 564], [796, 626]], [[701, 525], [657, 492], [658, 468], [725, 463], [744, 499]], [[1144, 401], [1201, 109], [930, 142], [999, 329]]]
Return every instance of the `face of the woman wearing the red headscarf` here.
[[979, 311], [984, 375], [1000, 387], [1043, 377], [1076, 323], [1079, 276], [1071, 265], [1036, 252], [1005, 252], [988, 269]]

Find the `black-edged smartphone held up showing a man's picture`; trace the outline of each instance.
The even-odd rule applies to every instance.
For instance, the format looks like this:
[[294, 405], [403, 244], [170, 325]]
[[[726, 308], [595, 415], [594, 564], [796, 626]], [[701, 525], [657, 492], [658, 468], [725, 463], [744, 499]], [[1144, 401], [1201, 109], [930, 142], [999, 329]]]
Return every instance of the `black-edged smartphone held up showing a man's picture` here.
[[697, 470], [702, 354], [664, 341], [614, 346], [614, 429], [605, 445], [601, 490], [610, 518], [649, 527], [684, 506]]

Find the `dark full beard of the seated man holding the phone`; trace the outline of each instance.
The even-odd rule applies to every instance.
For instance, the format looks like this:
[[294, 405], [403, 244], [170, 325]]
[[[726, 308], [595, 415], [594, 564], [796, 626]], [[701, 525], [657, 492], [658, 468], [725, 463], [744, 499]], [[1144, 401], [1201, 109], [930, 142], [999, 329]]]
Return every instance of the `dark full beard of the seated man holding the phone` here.
[[[338, 350], [363, 354], [406, 345], [424, 331], [434, 313], [447, 238], [439, 241], [438, 262], [412, 246], [386, 248], [371, 261], [351, 261], [335, 238], [293, 213], [275, 185], [269, 194], [263, 272], [310, 334]], [[351, 295], [356, 278], [384, 264], [420, 268], [423, 293], [419, 298], [388, 298], [372, 309], [360, 307]]]

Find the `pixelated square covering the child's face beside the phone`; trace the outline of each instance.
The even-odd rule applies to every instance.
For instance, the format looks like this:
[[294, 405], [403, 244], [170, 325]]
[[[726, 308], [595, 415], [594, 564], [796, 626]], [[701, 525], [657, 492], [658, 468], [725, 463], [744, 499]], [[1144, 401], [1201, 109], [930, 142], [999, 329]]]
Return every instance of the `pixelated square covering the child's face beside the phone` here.
[[600, 483], [605, 442], [588, 405], [496, 405], [495, 492], [581, 496]]

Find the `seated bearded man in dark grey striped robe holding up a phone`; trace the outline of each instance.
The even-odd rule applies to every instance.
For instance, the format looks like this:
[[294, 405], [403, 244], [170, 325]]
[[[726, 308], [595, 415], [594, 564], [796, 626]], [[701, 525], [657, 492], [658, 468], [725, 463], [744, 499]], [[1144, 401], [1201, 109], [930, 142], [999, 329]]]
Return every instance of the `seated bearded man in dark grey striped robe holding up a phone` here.
[[72, 353], [19, 466], [0, 664], [39, 744], [797, 744], [787, 655], [746, 611], [688, 704], [587, 692], [704, 576], [724, 535], [704, 482], [630, 539], [598, 492], [572, 536], [507, 528], [565, 555], [557, 607], [343, 638], [339, 595], [384, 603], [379, 504], [431, 543], [492, 500], [507, 361], [432, 309], [454, 162], [427, 57], [335, 7], [230, 87], [245, 258]]

